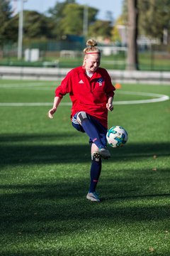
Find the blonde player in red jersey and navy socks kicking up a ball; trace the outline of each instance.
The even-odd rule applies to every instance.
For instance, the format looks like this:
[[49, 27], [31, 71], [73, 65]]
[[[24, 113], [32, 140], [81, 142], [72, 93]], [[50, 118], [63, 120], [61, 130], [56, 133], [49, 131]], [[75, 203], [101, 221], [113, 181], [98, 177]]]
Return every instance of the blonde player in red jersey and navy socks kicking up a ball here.
[[84, 49], [83, 65], [67, 73], [55, 90], [53, 107], [48, 117], [53, 118], [62, 97], [69, 93], [72, 100], [72, 125], [79, 132], [86, 132], [91, 144], [91, 182], [86, 198], [99, 202], [96, 185], [101, 174], [102, 159], [111, 157], [106, 149], [108, 111], [113, 110], [115, 87], [104, 68], [100, 68], [101, 51], [94, 40], [88, 40]]

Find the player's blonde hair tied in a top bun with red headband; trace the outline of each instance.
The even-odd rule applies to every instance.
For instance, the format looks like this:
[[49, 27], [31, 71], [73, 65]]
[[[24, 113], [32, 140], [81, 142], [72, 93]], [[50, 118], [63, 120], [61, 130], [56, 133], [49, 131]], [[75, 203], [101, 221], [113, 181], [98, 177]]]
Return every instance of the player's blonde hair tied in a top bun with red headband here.
[[88, 41], [86, 41], [86, 48], [84, 48], [84, 62], [83, 62], [83, 68], [85, 67], [85, 63], [86, 63], [86, 58], [88, 54], [98, 54], [101, 57], [101, 50], [98, 49], [97, 43], [95, 40], [93, 39], [89, 39]]

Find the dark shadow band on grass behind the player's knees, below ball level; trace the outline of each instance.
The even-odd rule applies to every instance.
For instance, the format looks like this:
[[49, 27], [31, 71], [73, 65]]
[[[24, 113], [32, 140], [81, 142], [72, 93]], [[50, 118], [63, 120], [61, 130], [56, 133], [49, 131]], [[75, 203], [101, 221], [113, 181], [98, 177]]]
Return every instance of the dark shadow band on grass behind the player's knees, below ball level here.
[[[81, 142], [81, 140], [79, 139]], [[1, 166], [6, 164], [57, 164], [89, 161], [90, 147], [77, 141], [75, 134], [3, 135], [0, 137]], [[55, 143], [56, 142], [56, 143]], [[64, 142], [64, 144], [63, 144]], [[69, 142], [67, 144], [67, 142]], [[73, 142], [73, 143], [72, 143]], [[76, 143], [76, 144], [74, 144]], [[169, 143], [128, 143], [111, 149], [110, 161], [131, 161], [137, 157], [168, 156]]]

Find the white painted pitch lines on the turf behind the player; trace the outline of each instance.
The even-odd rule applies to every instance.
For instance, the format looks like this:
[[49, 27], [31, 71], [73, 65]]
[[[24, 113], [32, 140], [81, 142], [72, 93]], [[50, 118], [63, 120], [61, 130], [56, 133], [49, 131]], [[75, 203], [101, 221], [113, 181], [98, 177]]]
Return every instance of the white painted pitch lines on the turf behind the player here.
[[[169, 96], [160, 95], [156, 93], [149, 92], [119, 92], [125, 95], [141, 95], [141, 96], [149, 96], [156, 97], [150, 100], [123, 100], [114, 102], [114, 105], [132, 105], [132, 104], [145, 104], [145, 103], [153, 103], [153, 102], [164, 102], [169, 100]], [[61, 102], [61, 106], [72, 106], [72, 102]], [[52, 102], [0, 102], [0, 107], [40, 107], [40, 106], [52, 106]]]

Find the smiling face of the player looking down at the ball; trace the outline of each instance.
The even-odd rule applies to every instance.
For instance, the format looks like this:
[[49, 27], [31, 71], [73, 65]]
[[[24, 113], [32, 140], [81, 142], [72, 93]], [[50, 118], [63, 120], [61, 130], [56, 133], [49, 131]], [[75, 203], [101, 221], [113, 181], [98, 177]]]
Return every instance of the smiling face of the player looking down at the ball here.
[[86, 54], [84, 59], [84, 68], [91, 73], [94, 73], [101, 64], [101, 56], [97, 53]]

